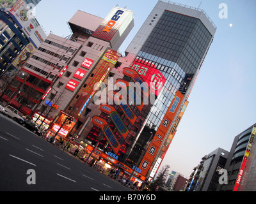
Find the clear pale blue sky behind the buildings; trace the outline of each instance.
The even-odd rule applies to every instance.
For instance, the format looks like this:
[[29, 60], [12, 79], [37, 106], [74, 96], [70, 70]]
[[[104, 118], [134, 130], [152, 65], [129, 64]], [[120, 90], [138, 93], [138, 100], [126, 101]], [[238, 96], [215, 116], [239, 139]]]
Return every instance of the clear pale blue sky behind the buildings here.
[[[234, 137], [256, 122], [256, 1], [177, 0], [205, 10], [217, 26], [211, 48], [189, 96], [189, 105], [163, 164], [189, 177], [201, 158], [221, 147], [230, 150]], [[132, 10], [134, 28], [120, 51], [124, 53], [157, 0], [42, 0], [36, 18], [47, 34], [66, 37], [67, 22], [81, 10], [105, 18], [118, 4]], [[201, 4], [200, 4], [201, 3]], [[219, 4], [228, 6], [228, 18], [220, 18]], [[230, 27], [232, 24], [232, 27]]]

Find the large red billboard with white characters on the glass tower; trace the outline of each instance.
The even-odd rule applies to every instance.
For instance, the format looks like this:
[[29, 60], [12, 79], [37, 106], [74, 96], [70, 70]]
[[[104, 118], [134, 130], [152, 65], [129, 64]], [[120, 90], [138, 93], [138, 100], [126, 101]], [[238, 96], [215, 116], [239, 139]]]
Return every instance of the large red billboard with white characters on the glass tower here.
[[164, 78], [157, 67], [152, 63], [135, 59], [134, 62], [132, 62], [131, 69], [137, 71], [138, 75], [147, 82], [150, 90], [158, 96], [166, 82], [166, 78]]

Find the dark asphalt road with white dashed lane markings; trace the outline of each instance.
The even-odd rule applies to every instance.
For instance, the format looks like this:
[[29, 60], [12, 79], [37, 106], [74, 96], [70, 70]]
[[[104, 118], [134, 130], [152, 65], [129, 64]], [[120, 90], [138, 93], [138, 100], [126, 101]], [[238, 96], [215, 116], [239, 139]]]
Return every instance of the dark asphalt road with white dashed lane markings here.
[[2, 114], [0, 170], [0, 191], [130, 191]]

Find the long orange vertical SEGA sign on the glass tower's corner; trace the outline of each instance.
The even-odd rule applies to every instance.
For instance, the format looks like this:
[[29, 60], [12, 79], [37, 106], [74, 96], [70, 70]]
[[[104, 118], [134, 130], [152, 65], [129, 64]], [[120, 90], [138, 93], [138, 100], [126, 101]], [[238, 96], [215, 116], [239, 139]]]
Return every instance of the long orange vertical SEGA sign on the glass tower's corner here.
[[172, 120], [175, 117], [177, 110], [179, 110], [179, 106], [183, 97], [184, 96], [179, 91], [176, 92], [170, 107], [168, 108], [159, 128], [157, 129], [156, 135], [154, 136], [152, 142], [148, 146], [147, 152], [141, 160], [140, 168], [142, 175], [147, 176], [148, 170], [150, 170], [150, 166], [152, 165], [156, 154], [161, 146], [161, 143], [164, 140], [164, 136], [170, 128], [170, 125], [172, 124]]

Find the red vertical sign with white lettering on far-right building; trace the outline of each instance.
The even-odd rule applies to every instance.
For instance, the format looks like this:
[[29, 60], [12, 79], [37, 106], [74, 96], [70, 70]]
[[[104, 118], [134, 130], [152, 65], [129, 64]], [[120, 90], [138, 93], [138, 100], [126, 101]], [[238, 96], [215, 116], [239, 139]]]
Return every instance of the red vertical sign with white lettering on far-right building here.
[[248, 159], [249, 154], [250, 154], [253, 139], [255, 137], [255, 133], [256, 133], [256, 126], [254, 126], [252, 128], [251, 137], [250, 137], [250, 140], [248, 142], [248, 145], [247, 145], [247, 148], [246, 148], [246, 151], [245, 151], [245, 154], [244, 154], [244, 158], [243, 158], [243, 161], [242, 161], [242, 164], [241, 164], [241, 168], [239, 170], [239, 173], [238, 173], [238, 176], [237, 176], [237, 179], [236, 179], [236, 184], [234, 186], [233, 191], [238, 191], [239, 185], [241, 183], [241, 179], [243, 177], [244, 169], [245, 169], [245, 166], [246, 166], [246, 163], [247, 163], [247, 159]]

